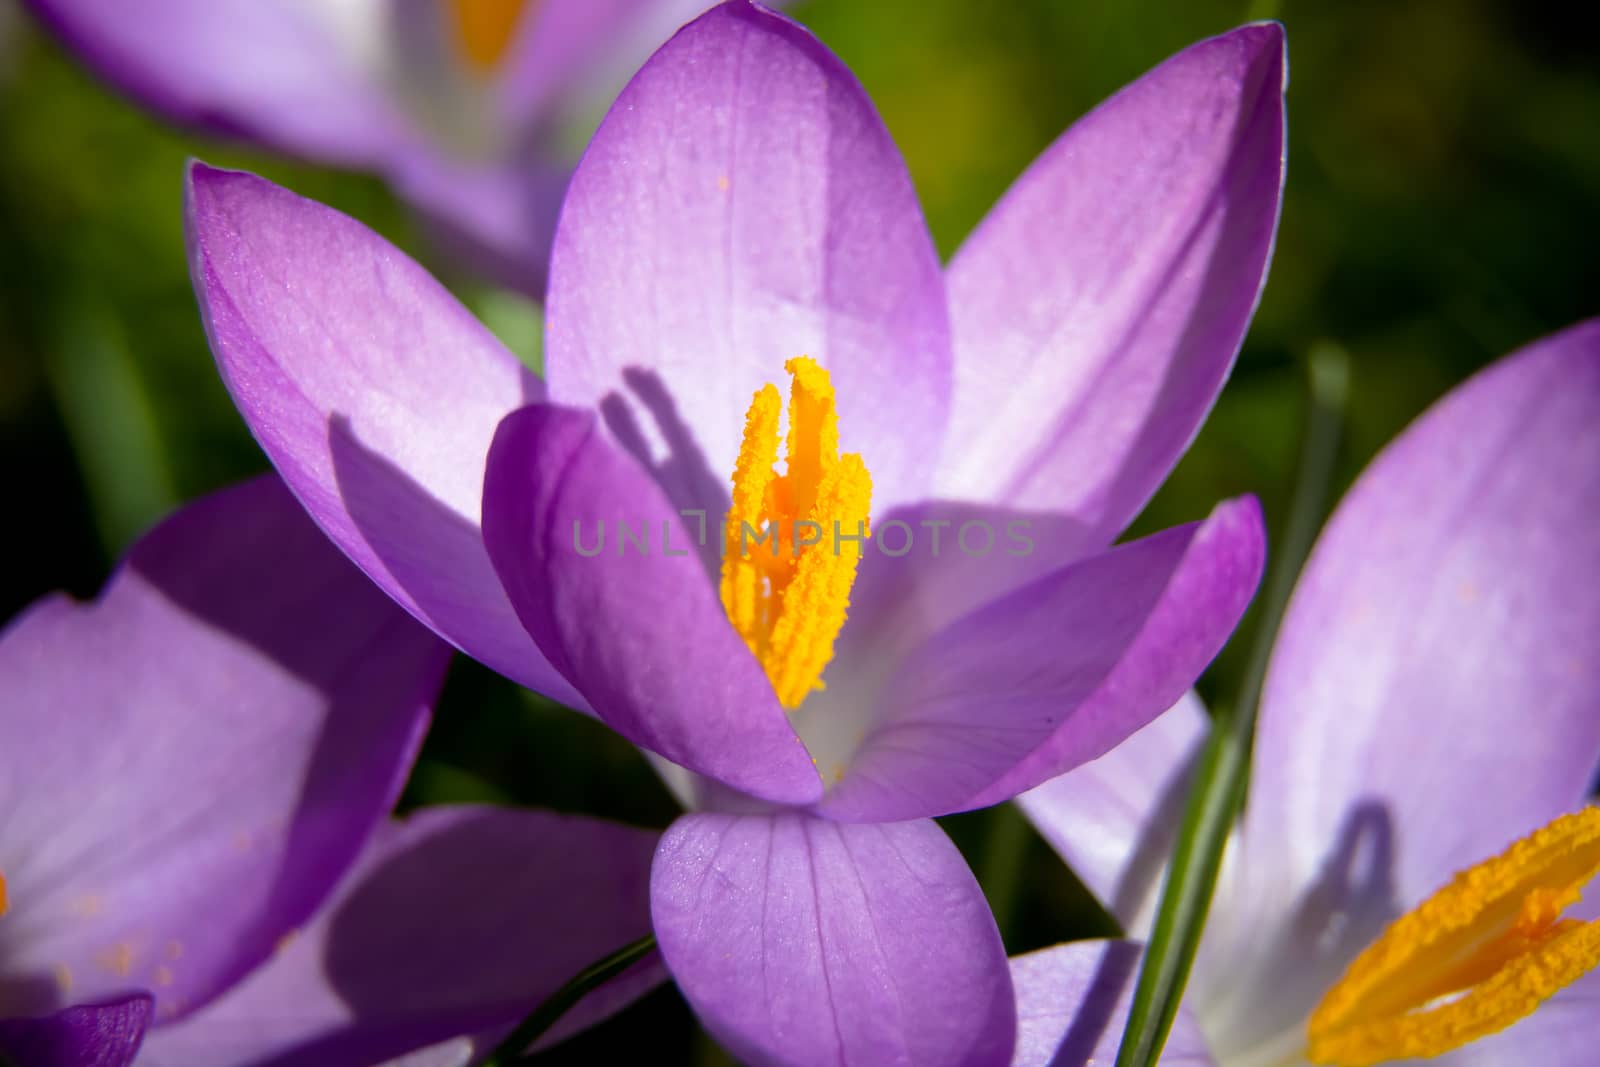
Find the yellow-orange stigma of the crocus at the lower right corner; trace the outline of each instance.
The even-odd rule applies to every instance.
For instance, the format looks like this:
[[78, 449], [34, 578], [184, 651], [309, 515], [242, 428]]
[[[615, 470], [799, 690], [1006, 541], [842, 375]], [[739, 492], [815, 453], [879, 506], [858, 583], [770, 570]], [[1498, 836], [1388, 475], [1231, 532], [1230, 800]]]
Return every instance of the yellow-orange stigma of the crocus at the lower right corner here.
[[1310, 1016], [1307, 1057], [1438, 1056], [1530, 1016], [1600, 965], [1600, 921], [1562, 912], [1600, 872], [1600, 808], [1562, 816], [1402, 915]]

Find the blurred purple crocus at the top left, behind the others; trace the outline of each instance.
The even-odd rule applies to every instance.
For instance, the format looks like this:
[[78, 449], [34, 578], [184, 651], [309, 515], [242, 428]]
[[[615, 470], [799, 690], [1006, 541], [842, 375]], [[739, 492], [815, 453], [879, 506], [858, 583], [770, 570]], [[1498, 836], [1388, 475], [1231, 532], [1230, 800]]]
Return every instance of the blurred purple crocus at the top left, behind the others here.
[[709, 0], [27, 0], [186, 126], [381, 174], [466, 266], [538, 296], [562, 131]]

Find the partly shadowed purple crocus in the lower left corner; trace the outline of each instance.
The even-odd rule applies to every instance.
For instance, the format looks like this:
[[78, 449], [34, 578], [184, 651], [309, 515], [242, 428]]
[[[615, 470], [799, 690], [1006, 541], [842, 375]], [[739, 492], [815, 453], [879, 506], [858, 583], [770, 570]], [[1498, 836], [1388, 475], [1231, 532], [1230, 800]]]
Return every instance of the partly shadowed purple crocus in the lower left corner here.
[[482, 1045], [648, 931], [653, 833], [464, 808], [368, 845], [446, 659], [277, 478], [181, 510], [94, 603], [11, 622], [0, 1059], [370, 1067]]

